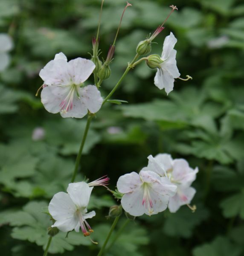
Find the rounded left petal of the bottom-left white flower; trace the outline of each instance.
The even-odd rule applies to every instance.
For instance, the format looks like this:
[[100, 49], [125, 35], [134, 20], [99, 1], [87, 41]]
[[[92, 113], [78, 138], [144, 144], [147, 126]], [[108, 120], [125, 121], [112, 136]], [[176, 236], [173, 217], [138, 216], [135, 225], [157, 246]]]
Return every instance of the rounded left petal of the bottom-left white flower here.
[[50, 201], [48, 210], [55, 220], [65, 220], [74, 216], [76, 205], [67, 193], [58, 192]]

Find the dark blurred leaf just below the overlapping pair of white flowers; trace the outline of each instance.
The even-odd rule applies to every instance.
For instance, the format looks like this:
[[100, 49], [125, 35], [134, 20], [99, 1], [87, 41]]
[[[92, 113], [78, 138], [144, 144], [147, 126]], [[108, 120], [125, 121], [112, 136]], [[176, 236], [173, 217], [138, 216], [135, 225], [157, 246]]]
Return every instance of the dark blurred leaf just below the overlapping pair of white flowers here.
[[208, 217], [208, 210], [200, 204], [197, 204], [197, 210], [194, 213], [188, 207], [183, 206], [166, 218], [163, 232], [168, 236], [189, 238], [192, 236], [194, 228]]

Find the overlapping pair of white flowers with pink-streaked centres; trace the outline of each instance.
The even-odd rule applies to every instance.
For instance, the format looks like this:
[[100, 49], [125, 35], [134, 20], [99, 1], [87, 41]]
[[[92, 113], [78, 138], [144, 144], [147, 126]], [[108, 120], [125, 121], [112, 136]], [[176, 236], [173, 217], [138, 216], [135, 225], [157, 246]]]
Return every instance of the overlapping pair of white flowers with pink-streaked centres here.
[[176, 212], [190, 204], [195, 195], [191, 187], [198, 168], [193, 170], [184, 159], [172, 159], [169, 154], [148, 157], [148, 166], [139, 174], [131, 172], [119, 177], [118, 191], [123, 209], [133, 216], [163, 212], [167, 207]]

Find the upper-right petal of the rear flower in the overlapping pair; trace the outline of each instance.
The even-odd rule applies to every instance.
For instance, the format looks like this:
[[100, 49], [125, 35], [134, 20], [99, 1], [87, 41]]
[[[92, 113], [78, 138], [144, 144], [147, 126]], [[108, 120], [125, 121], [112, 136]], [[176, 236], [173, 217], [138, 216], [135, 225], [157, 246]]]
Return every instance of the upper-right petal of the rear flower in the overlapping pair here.
[[184, 186], [190, 186], [196, 179], [198, 168], [193, 170], [189, 167], [188, 162], [185, 159], [175, 159], [173, 161], [172, 177], [175, 181], [181, 183]]

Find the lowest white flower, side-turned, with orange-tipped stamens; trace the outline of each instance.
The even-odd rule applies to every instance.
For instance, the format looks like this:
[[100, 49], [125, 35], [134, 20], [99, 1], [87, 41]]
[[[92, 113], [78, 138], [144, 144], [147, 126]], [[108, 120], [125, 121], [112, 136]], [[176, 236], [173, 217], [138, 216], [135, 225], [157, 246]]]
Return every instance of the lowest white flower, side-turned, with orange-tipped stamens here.
[[94, 211], [87, 213], [90, 194], [93, 187], [85, 182], [70, 183], [67, 192], [58, 192], [49, 203], [48, 210], [55, 219], [52, 227], [57, 227], [63, 232], [81, 230], [84, 236], [89, 236], [93, 232], [86, 221], [96, 215]]

